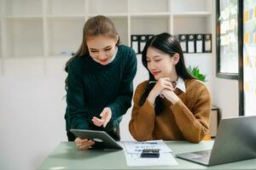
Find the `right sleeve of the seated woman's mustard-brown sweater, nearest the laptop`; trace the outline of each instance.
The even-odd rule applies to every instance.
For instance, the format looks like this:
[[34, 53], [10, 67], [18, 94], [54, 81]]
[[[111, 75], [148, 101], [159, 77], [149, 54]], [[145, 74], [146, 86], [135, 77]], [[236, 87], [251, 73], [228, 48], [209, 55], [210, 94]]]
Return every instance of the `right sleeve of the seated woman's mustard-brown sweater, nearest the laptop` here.
[[178, 100], [171, 106], [177, 126], [183, 133], [185, 139], [192, 143], [200, 142], [208, 133], [209, 116], [212, 108], [211, 95], [206, 87], [196, 92], [195, 105], [192, 111]]

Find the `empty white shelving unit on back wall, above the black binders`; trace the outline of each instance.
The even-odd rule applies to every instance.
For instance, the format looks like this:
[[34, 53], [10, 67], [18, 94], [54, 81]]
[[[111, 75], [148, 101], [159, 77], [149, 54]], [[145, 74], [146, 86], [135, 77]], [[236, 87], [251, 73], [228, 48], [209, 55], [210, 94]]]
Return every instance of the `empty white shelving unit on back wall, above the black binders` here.
[[1, 56], [52, 57], [76, 51], [84, 22], [104, 14], [121, 41], [131, 34], [212, 33], [208, 0], [1, 0]]

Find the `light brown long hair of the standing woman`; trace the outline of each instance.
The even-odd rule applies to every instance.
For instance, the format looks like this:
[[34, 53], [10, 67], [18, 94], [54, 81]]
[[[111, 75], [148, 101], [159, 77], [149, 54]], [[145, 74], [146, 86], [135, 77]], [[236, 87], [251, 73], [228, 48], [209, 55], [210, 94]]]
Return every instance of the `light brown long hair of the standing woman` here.
[[[68, 72], [68, 65], [69, 63], [75, 59], [76, 57], [84, 56], [89, 54], [89, 49], [86, 44], [86, 39], [89, 37], [96, 37], [96, 36], [108, 36], [116, 38], [118, 33], [113, 25], [113, 21], [108, 19], [108, 17], [97, 15], [95, 17], [90, 18], [86, 21], [83, 28], [83, 41], [79, 47], [79, 50], [76, 54], [73, 55], [72, 58], [68, 59], [65, 65], [65, 71]], [[120, 41], [116, 45], [119, 45]], [[65, 89], [67, 90], [67, 78], [65, 80]]]

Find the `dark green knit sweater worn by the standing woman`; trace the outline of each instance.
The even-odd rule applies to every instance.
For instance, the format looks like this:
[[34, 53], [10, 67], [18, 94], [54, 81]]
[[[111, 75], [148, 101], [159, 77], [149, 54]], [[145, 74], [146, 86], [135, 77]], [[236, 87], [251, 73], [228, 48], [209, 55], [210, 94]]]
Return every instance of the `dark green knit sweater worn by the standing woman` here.
[[[68, 65], [66, 127], [111, 131], [131, 107], [132, 81], [137, 71], [135, 52], [124, 45], [111, 63], [101, 65], [89, 55], [79, 56]], [[96, 127], [91, 119], [109, 107], [112, 118], [107, 127]]]

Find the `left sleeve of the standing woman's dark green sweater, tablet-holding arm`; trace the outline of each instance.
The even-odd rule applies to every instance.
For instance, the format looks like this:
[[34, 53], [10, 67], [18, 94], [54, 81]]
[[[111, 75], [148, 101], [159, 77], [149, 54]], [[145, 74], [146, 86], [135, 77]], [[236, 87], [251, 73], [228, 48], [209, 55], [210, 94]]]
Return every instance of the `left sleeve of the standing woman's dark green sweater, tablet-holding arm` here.
[[84, 105], [84, 86], [79, 69], [70, 63], [67, 77], [67, 121], [71, 128], [90, 129]]

